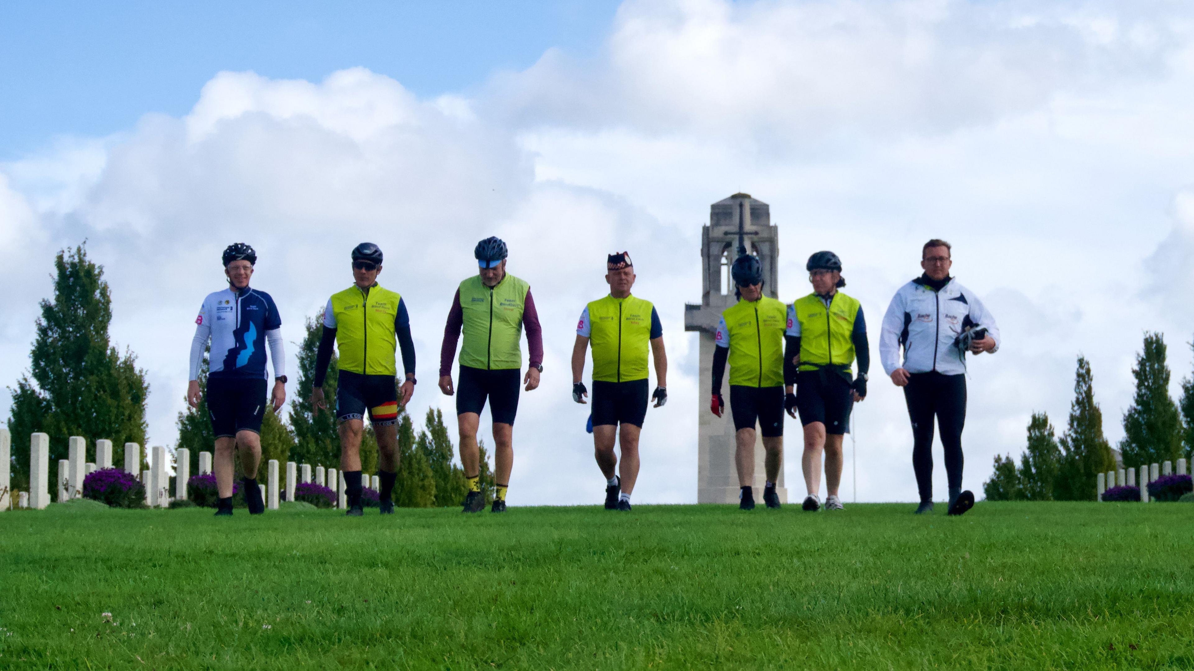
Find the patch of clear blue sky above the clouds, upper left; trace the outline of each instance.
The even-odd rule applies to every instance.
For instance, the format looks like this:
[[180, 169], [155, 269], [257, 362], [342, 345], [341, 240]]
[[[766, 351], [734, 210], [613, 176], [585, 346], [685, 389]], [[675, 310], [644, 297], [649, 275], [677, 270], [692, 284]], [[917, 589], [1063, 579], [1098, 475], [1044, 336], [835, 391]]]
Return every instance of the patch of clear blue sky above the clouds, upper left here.
[[420, 97], [467, 91], [558, 47], [599, 45], [611, 0], [0, 4], [0, 161], [54, 136], [180, 116], [221, 70], [319, 81], [364, 66]]

